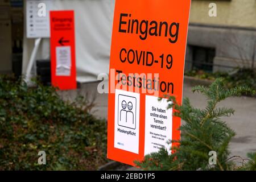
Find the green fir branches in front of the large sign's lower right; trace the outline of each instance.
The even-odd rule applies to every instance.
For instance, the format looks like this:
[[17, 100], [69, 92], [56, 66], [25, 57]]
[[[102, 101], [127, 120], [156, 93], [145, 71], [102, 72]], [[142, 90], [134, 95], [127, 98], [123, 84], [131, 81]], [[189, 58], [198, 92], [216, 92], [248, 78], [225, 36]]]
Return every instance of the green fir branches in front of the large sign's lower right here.
[[[228, 97], [241, 96], [242, 93], [255, 94], [255, 90], [247, 86], [227, 89], [224, 80], [217, 78], [208, 87], [195, 86], [192, 92], [201, 93], [207, 98], [205, 109], [193, 107], [188, 98], [184, 98], [183, 105], [179, 105], [174, 96], [168, 97], [168, 109], [174, 109], [174, 115], [185, 121], [180, 127], [181, 140], [170, 141], [179, 143], [179, 147], [171, 147], [175, 153], [168, 155], [163, 148], [147, 155], [142, 162], [135, 162], [139, 167], [147, 170], [229, 170], [234, 165], [228, 160], [228, 145], [235, 133], [221, 120], [221, 117], [234, 114], [234, 109], [216, 107]], [[209, 151], [217, 152], [216, 166], [209, 166]], [[243, 169], [256, 168], [256, 154], [250, 157], [252, 162]]]

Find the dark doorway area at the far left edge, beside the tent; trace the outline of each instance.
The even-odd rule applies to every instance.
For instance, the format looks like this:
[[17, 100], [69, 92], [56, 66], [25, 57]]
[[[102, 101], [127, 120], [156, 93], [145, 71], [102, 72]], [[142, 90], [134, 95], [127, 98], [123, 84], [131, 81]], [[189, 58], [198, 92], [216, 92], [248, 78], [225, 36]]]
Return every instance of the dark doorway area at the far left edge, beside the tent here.
[[0, 1], [0, 74], [22, 74], [23, 0]]

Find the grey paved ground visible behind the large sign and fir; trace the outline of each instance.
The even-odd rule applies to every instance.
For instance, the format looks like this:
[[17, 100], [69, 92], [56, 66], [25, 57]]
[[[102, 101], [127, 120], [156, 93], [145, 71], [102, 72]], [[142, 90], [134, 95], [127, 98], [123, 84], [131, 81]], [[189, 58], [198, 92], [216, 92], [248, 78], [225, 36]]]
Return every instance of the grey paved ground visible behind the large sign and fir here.
[[[88, 96], [89, 100], [94, 100], [96, 107], [92, 110], [93, 114], [99, 118], [108, 117], [108, 95], [98, 94], [97, 82], [82, 84], [81, 89], [72, 92], [61, 93], [64, 98], [72, 100], [77, 93]], [[200, 94], [192, 94], [192, 86], [184, 83], [183, 96], [191, 100], [191, 104], [199, 108], [204, 108], [205, 98]], [[234, 131], [236, 137], [230, 143], [232, 155], [238, 155], [246, 158], [247, 152], [256, 152], [256, 98], [250, 97], [232, 97], [221, 102], [221, 106], [233, 107], [236, 110], [235, 115], [225, 118], [225, 121]]]

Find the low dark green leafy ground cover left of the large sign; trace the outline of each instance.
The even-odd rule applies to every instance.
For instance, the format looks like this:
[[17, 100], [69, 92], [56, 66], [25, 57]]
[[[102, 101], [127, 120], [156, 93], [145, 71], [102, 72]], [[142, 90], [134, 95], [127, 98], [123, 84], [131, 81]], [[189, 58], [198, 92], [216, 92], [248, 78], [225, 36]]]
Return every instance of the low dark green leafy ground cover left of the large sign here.
[[[0, 170], [86, 170], [106, 163], [106, 121], [89, 114], [86, 104], [1, 76]], [[39, 151], [46, 151], [46, 165], [38, 164]]]

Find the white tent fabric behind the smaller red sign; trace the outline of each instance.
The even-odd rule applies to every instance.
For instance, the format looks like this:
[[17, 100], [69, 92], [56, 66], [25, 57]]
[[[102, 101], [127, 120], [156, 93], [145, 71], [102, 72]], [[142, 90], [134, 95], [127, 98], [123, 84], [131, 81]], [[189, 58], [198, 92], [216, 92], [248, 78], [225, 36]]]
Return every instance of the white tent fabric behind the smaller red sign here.
[[[26, 1], [24, 6], [26, 14]], [[75, 11], [77, 81], [96, 81], [100, 73], [108, 73], [114, 0], [53, 0], [52, 6], [53, 10]], [[24, 27], [26, 29], [26, 24]], [[25, 30], [23, 74], [26, 73], [34, 46], [35, 39], [28, 39]], [[40, 42], [35, 60], [49, 57], [49, 39], [44, 38]], [[31, 74], [35, 74], [35, 69], [32, 69]]]

